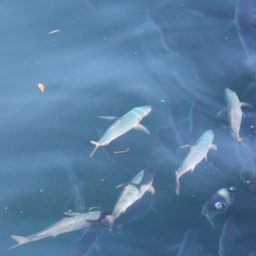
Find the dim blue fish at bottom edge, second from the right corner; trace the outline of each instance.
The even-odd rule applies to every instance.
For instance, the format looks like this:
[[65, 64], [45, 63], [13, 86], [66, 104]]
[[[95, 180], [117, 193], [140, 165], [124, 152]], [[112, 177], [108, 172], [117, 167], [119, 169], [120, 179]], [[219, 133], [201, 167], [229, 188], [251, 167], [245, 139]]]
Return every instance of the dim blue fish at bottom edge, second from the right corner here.
[[202, 250], [202, 245], [198, 241], [198, 236], [198, 228], [189, 228], [185, 233], [177, 256], [195, 256], [199, 250]]

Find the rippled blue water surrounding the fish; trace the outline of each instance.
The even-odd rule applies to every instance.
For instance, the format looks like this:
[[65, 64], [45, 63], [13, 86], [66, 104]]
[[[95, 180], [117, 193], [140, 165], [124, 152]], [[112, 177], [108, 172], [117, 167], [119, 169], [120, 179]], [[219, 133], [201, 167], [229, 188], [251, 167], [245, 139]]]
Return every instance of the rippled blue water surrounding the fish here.
[[[198, 255], [217, 255], [223, 225], [232, 214], [237, 219], [232, 255], [256, 250], [256, 195], [239, 178], [243, 166], [252, 168], [246, 161], [250, 151], [225, 128], [223, 98], [228, 87], [256, 108], [255, 89], [244, 93], [253, 78], [236, 26], [228, 27], [236, 1], [223, 2], [227, 19], [195, 15], [182, 0], [98, 0], [94, 8], [83, 0], [1, 1], [1, 255], [66, 255], [78, 243], [81, 231], [7, 251], [15, 244], [11, 235], [29, 236], [61, 220], [63, 212], [76, 210], [67, 166], [83, 184], [85, 210], [111, 211], [121, 192], [115, 187], [152, 163], [157, 164], [156, 211], [125, 224], [120, 233], [116, 228], [111, 235], [105, 232], [100, 254], [93, 250], [90, 255], [166, 255], [193, 225], [200, 232]], [[226, 10], [215, 1], [207, 3], [217, 13]], [[193, 4], [204, 7], [199, 0]], [[164, 49], [148, 10], [166, 24], [166, 37], [193, 67]], [[47, 35], [56, 29], [61, 31]], [[196, 136], [211, 129], [218, 151], [208, 154], [212, 165], [202, 161], [180, 178], [177, 196], [174, 171], [188, 154], [179, 147], [195, 143], [188, 116], [196, 97], [202, 104], [193, 120], [202, 124]], [[127, 132], [106, 148], [108, 155], [99, 148], [89, 157], [90, 141], [98, 141], [110, 125], [97, 116], [120, 117], [146, 105], [152, 112], [141, 124], [150, 136]], [[243, 112], [241, 137], [252, 148], [255, 109]], [[216, 216], [213, 230], [202, 206], [228, 186], [237, 188], [234, 204]]]

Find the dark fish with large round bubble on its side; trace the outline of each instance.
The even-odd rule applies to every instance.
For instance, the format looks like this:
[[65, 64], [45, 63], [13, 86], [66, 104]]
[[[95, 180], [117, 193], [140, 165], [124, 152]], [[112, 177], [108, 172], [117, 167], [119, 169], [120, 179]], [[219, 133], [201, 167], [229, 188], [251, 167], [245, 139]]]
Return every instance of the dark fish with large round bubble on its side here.
[[212, 219], [226, 212], [228, 207], [233, 204], [235, 192], [235, 187], [222, 188], [211, 195], [205, 202], [202, 208], [202, 214], [209, 220], [212, 228], [215, 229]]

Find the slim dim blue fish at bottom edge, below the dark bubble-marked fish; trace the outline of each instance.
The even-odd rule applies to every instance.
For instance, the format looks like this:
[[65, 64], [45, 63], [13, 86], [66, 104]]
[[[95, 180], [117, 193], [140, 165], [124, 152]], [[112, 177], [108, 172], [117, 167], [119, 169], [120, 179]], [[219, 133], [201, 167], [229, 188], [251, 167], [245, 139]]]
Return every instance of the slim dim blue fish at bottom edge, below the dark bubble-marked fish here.
[[234, 232], [236, 228], [236, 218], [230, 216], [226, 221], [220, 236], [219, 255], [230, 256], [233, 244]]

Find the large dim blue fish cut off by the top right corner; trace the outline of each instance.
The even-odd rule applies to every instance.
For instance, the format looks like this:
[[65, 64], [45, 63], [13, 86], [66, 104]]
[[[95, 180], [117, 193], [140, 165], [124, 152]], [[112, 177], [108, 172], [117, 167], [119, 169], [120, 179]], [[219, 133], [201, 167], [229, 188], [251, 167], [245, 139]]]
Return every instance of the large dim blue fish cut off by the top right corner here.
[[238, 0], [236, 5], [236, 29], [239, 40], [248, 57], [247, 63], [252, 68], [256, 79], [256, 3], [250, 0]]

